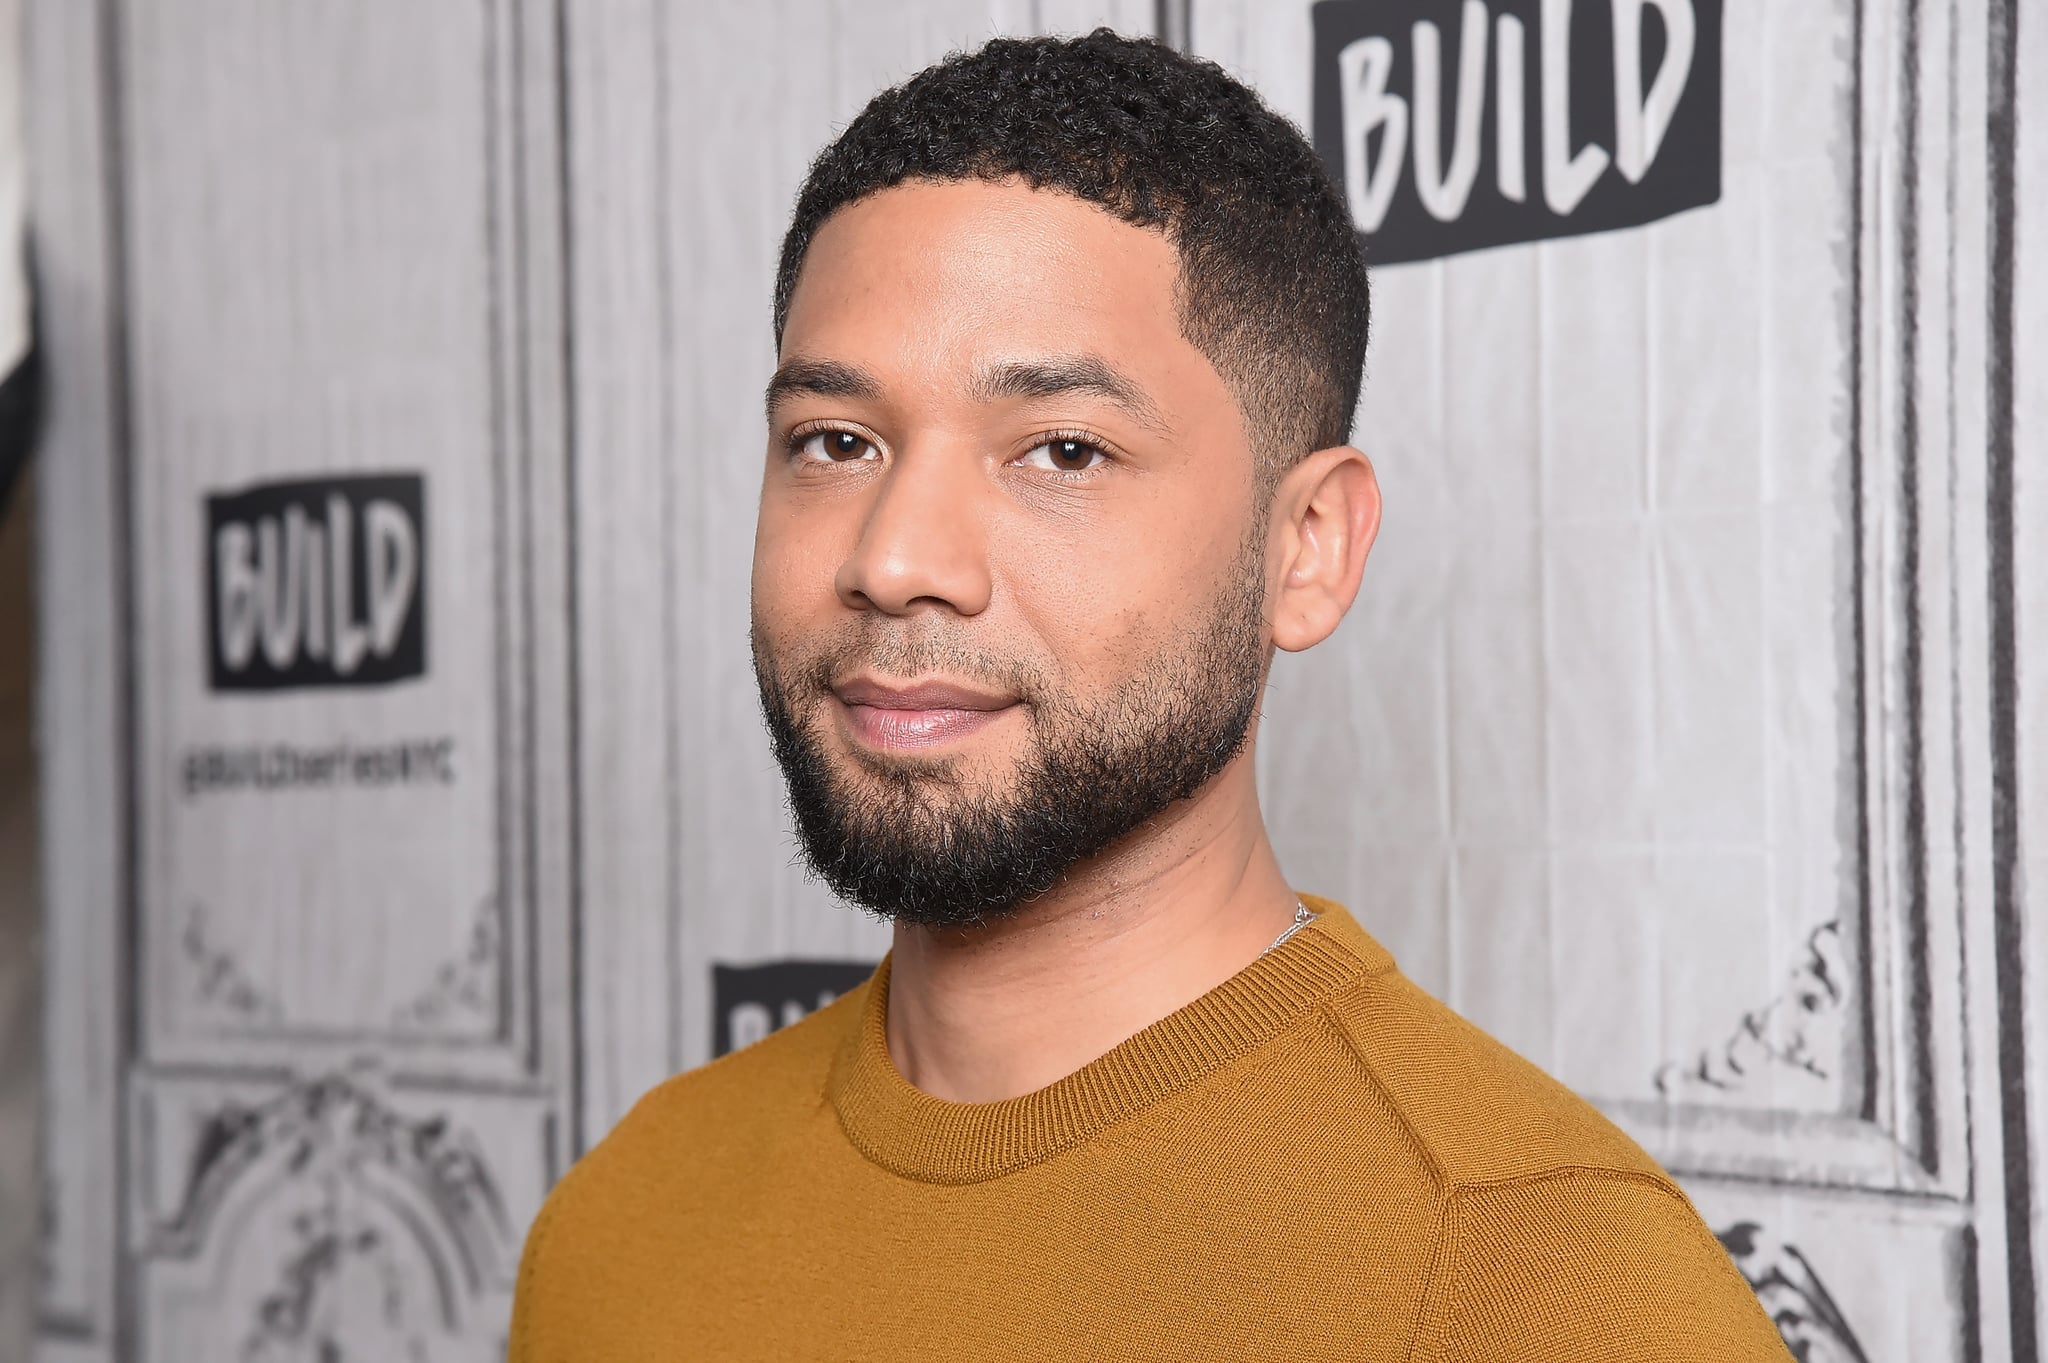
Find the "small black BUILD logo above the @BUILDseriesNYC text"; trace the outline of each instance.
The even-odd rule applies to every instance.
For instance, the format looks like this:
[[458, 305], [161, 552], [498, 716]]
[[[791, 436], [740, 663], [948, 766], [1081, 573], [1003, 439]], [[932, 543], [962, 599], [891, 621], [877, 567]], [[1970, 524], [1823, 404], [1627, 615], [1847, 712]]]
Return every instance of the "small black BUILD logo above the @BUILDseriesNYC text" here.
[[383, 686], [426, 671], [418, 473], [207, 497], [207, 679], [217, 692]]

